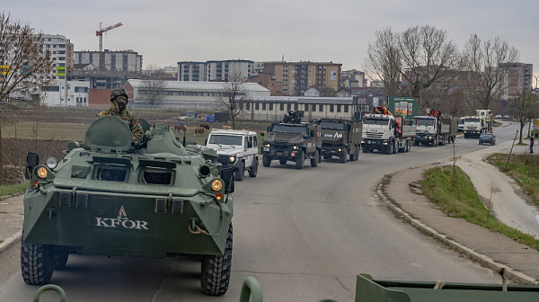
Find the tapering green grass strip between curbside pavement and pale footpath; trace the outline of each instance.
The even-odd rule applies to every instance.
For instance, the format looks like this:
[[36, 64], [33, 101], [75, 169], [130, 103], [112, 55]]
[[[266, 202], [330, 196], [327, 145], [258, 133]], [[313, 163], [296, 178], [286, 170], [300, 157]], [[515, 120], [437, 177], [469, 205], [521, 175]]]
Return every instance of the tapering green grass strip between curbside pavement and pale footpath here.
[[477, 226], [507, 235], [519, 244], [539, 250], [539, 240], [504, 225], [492, 216], [482, 204], [468, 175], [459, 167], [455, 167], [455, 171], [455, 178], [452, 165], [425, 171], [425, 181], [421, 182], [425, 195], [451, 217], [464, 218]]

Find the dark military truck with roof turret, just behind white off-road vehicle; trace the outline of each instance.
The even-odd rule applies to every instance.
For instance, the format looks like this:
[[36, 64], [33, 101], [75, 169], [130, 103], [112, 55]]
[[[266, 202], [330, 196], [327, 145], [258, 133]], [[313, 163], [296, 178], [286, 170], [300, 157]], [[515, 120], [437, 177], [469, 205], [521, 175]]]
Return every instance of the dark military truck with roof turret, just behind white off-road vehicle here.
[[262, 164], [271, 165], [278, 159], [279, 164], [296, 162], [296, 169], [303, 169], [305, 159], [311, 160], [311, 166], [321, 161], [321, 127], [313, 123], [301, 122], [303, 111], [289, 111], [283, 122], [271, 123], [268, 135], [262, 141]]

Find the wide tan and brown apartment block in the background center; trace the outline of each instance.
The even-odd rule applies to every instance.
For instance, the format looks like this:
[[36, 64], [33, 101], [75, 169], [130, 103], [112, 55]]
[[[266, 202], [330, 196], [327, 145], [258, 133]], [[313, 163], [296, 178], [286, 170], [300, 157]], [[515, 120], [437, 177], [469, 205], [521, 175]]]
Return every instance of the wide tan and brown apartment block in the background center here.
[[311, 86], [339, 90], [341, 66], [333, 62], [264, 62], [264, 72], [283, 82], [284, 92], [302, 96]]

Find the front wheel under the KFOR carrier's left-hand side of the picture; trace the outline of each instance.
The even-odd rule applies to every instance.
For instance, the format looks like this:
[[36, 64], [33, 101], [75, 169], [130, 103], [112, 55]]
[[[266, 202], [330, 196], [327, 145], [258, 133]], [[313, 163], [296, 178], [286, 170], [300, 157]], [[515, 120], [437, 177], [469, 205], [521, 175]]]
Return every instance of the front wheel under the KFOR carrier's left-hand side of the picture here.
[[53, 263], [48, 244], [21, 243], [22, 280], [31, 285], [44, 285], [52, 277]]

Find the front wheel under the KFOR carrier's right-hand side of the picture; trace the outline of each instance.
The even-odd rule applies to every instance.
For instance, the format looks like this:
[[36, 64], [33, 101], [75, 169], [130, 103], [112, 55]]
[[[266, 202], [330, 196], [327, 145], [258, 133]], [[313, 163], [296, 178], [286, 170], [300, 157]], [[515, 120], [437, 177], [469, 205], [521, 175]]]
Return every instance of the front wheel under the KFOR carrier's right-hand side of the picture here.
[[217, 256], [206, 256], [202, 260], [200, 286], [209, 296], [225, 295], [230, 282], [230, 266], [232, 264], [232, 222], [228, 227], [225, 253]]

